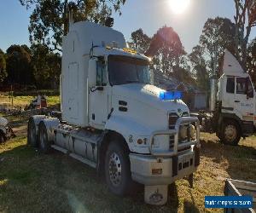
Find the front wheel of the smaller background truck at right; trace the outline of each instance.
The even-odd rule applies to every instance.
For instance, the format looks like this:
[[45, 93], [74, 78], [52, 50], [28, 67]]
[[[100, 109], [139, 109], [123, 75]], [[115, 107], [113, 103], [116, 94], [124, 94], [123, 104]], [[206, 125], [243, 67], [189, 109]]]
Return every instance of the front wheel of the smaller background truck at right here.
[[227, 145], [237, 146], [241, 139], [241, 130], [233, 120], [224, 121], [220, 132], [220, 140]]

